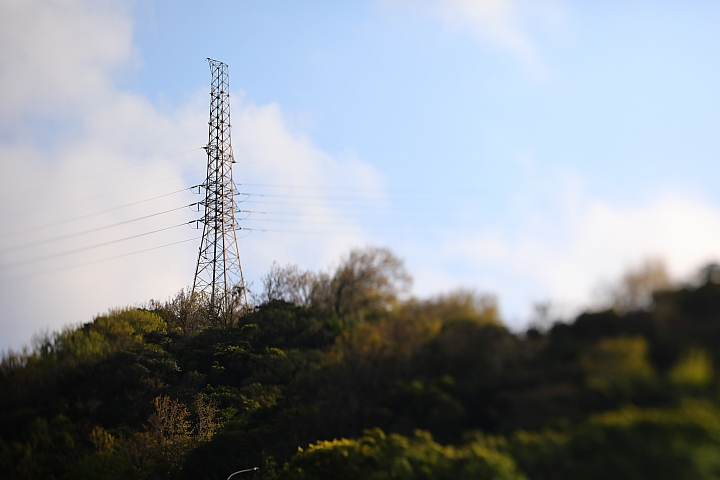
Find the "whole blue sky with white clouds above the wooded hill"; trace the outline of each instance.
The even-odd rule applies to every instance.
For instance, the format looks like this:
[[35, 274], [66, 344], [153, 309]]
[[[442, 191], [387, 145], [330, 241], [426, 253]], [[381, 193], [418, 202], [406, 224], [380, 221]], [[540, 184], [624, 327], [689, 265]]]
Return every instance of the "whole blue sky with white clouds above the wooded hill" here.
[[[390, 248], [513, 329], [720, 259], [720, 4], [0, 0], [0, 349], [192, 284], [228, 64], [246, 279]], [[190, 222], [190, 223], [189, 223]]]

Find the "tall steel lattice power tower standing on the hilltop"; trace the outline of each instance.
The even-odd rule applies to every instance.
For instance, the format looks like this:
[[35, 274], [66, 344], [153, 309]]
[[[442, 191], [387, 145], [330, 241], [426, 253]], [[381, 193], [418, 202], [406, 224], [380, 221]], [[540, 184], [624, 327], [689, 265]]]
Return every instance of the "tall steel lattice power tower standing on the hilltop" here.
[[235, 221], [235, 163], [230, 143], [230, 95], [227, 65], [208, 58], [212, 83], [210, 88], [210, 126], [205, 200], [200, 202], [205, 214], [193, 293], [209, 299], [218, 314], [231, 312], [240, 303], [247, 307], [245, 279], [240, 265]]

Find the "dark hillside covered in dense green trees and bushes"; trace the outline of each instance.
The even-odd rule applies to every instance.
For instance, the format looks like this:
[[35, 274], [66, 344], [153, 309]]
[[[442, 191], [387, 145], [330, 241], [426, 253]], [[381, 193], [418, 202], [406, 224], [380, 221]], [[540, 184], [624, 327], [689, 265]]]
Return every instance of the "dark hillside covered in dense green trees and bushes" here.
[[373, 248], [113, 310], [3, 356], [0, 477], [720, 478], [717, 272], [522, 334]]

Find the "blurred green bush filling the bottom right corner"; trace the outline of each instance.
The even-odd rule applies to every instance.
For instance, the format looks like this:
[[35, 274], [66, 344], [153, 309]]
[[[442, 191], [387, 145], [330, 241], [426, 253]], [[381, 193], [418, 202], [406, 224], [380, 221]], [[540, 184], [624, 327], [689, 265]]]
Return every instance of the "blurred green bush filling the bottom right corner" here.
[[512, 444], [532, 478], [713, 479], [720, 475], [720, 412], [696, 401], [625, 407], [566, 434], [520, 432]]

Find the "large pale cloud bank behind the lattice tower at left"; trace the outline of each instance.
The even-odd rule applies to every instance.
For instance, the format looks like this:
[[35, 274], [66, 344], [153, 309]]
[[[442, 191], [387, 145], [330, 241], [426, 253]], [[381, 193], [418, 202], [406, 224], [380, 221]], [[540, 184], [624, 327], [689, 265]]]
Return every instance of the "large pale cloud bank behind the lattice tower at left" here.
[[[132, 62], [132, 52], [132, 20], [114, 3], [0, 1], [0, 349], [192, 283], [199, 241], [106, 261], [199, 235], [189, 227], [89, 248], [197, 217], [189, 209], [57, 238], [198, 200], [184, 192], [106, 211], [197, 184], [204, 172], [180, 176], [205, 168], [199, 147], [207, 142], [207, 93], [166, 113], [120, 90], [113, 74]], [[207, 66], [199, 59], [198, 68]], [[322, 228], [329, 216], [343, 217], [330, 193], [310, 186], [378, 185], [363, 162], [335, 158], [291, 134], [278, 105], [253, 105], [238, 94], [231, 108], [236, 180], [304, 187], [299, 191], [312, 198], [281, 199], [294, 218]], [[361, 243], [362, 230], [344, 225], [333, 236], [253, 232], [240, 247], [246, 273], [257, 277], [275, 259], [318, 268]], [[78, 249], [85, 250], [63, 254]]]

